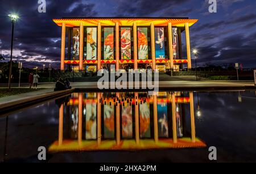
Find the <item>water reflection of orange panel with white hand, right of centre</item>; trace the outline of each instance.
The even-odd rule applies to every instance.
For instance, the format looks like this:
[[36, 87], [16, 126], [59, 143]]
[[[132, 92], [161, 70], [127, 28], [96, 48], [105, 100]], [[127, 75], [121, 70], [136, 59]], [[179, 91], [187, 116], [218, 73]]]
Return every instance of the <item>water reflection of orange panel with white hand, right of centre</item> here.
[[139, 104], [139, 133], [141, 138], [150, 138], [150, 104]]

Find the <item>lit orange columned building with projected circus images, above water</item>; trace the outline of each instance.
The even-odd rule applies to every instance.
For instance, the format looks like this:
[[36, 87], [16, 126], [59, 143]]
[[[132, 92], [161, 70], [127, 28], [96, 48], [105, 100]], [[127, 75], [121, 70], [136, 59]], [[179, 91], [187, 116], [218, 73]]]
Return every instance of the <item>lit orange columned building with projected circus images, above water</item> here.
[[[62, 18], [60, 70], [191, 69], [188, 18]], [[187, 54], [183, 55], [181, 33]]]

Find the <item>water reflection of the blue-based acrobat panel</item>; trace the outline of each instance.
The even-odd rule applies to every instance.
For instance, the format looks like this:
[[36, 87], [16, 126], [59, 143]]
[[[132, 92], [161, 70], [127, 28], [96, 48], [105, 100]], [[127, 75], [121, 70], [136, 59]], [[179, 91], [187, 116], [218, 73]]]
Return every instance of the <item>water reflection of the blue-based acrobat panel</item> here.
[[168, 137], [167, 103], [158, 104], [158, 136]]

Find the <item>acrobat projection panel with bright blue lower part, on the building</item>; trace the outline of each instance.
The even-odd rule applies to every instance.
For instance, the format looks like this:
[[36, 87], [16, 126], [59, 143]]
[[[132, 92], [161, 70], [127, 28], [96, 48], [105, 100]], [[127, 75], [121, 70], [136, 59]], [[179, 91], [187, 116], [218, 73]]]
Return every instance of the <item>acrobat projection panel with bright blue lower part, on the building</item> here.
[[166, 50], [164, 48], [164, 28], [155, 28], [155, 58], [164, 59], [166, 58]]

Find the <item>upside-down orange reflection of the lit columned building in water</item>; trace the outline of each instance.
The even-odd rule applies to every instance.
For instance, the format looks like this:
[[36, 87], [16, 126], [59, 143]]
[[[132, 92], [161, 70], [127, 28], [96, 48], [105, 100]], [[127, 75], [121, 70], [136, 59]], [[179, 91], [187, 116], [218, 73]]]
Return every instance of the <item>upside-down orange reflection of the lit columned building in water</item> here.
[[[186, 112], [190, 126], [185, 124]], [[49, 150], [205, 146], [195, 135], [192, 92], [92, 92], [74, 93], [61, 103], [59, 140]]]

